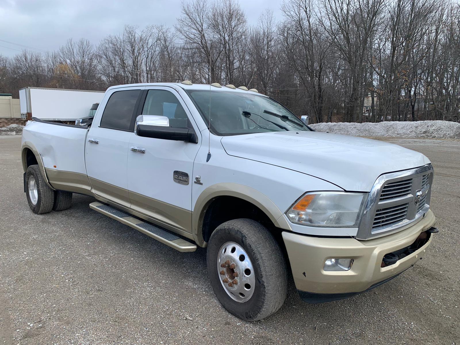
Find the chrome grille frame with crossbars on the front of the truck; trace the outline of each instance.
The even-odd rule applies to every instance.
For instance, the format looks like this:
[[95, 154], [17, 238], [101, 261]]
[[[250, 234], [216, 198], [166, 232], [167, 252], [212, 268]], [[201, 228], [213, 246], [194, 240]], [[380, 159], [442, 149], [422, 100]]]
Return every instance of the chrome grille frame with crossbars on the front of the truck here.
[[[431, 164], [427, 164], [423, 167], [380, 175], [379, 178], [377, 178], [375, 181], [371, 191], [369, 192], [368, 201], [366, 203], [366, 207], [364, 208], [364, 212], [362, 213], [362, 219], [358, 227], [356, 238], [358, 240], [369, 240], [371, 238], [393, 234], [395, 232], [404, 230], [408, 226], [414, 225], [420, 221], [420, 219], [423, 218], [429, 209], [431, 189], [429, 189], [426, 193], [425, 207], [423, 207], [419, 212], [417, 212], [418, 205], [416, 205], [414, 202], [415, 195], [417, 190], [422, 188], [422, 177], [424, 174], [431, 173], [427, 184], [430, 186], [432, 185], [433, 172], [434, 170]], [[380, 201], [380, 193], [386, 184], [398, 182], [407, 179], [408, 177], [412, 178], [413, 180], [412, 189], [408, 196], [400, 197], [397, 199], [389, 199], [388, 201]], [[400, 222], [391, 224], [389, 226], [382, 226], [381, 228], [373, 229], [372, 226], [377, 209], [403, 205], [405, 203], [409, 204], [406, 219], [403, 219]]]

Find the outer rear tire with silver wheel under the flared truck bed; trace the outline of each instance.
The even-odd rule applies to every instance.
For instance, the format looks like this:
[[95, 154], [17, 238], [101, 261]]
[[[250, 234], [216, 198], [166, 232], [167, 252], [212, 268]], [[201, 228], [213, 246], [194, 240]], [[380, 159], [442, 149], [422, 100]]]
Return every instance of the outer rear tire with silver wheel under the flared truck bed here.
[[34, 164], [26, 172], [26, 196], [33, 213], [48, 213], [54, 205], [54, 190], [45, 182], [40, 168]]

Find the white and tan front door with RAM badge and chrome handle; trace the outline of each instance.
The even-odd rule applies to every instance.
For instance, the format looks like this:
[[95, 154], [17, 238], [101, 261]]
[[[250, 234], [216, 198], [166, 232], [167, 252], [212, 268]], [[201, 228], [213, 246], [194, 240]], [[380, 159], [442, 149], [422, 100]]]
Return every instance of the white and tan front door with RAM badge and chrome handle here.
[[[131, 134], [128, 149], [128, 190], [131, 208], [173, 230], [191, 232], [193, 162], [201, 134], [184, 101], [173, 88], [147, 86], [138, 115], [162, 115], [170, 127], [193, 128], [198, 144]], [[143, 153], [136, 150], [141, 148]]]

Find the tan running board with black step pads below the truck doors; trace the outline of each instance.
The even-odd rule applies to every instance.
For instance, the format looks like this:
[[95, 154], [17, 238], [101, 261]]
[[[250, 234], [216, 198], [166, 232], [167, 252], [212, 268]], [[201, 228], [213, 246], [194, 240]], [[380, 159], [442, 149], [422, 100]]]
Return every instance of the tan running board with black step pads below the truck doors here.
[[98, 211], [110, 218], [118, 220], [120, 223], [131, 226], [133, 229], [136, 229], [147, 236], [154, 238], [155, 240], [166, 244], [169, 247], [172, 247], [179, 252], [195, 252], [196, 244], [185, 241], [176, 234], [163, 230], [153, 224], [145, 223], [144, 221], [134, 218], [128, 213], [124, 213], [120, 210], [117, 210], [114, 207], [109, 205], [102, 204], [100, 202], [92, 202], [89, 204], [93, 210]]

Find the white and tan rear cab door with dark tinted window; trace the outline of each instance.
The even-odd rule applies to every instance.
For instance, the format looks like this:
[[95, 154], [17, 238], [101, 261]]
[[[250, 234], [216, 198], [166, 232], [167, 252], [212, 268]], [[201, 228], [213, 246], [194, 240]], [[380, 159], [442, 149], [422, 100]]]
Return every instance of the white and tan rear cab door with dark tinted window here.
[[104, 96], [86, 138], [86, 172], [93, 193], [129, 207], [127, 155], [136, 109], [145, 86], [121, 87]]

